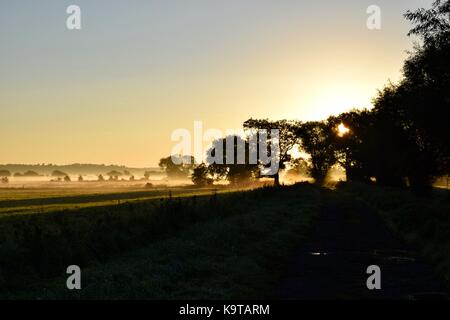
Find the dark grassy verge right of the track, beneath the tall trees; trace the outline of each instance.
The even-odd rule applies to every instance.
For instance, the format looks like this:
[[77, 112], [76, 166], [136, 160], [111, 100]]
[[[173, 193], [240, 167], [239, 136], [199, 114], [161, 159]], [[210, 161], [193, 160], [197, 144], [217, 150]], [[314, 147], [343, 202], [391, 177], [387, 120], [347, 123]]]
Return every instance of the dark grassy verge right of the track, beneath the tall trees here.
[[450, 192], [436, 189], [431, 198], [397, 188], [343, 184], [338, 193], [364, 202], [405, 241], [418, 248], [450, 287]]

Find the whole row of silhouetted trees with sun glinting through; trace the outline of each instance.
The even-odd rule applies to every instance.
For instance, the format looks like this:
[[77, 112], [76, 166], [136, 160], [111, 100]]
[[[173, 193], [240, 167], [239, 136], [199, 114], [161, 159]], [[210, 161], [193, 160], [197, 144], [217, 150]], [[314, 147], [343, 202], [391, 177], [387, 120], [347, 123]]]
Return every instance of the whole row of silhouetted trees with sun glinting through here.
[[[330, 168], [338, 164], [349, 181], [409, 185], [425, 193], [434, 179], [449, 173], [450, 1], [435, 1], [431, 9], [408, 11], [405, 17], [414, 24], [409, 35], [418, 36], [421, 42], [404, 62], [402, 80], [380, 90], [373, 99], [372, 110], [353, 110], [306, 123], [267, 119], [244, 123], [244, 129], [279, 130], [280, 170], [293, 161], [298, 163], [299, 159], [292, 159], [291, 153], [299, 148], [309, 155], [301, 162], [306, 163], [317, 182], [322, 182]], [[248, 139], [231, 139], [235, 141], [234, 155], [238, 148], [250, 153]], [[218, 146], [223, 147], [221, 163], [227, 163], [226, 140], [214, 141], [208, 151], [211, 156]], [[180, 175], [192, 170], [192, 180], [198, 185], [219, 179], [231, 183], [248, 181], [259, 177], [261, 167], [250, 164], [248, 157], [243, 164], [186, 163], [190, 164], [176, 165], [169, 157], [161, 160], [160, 167]], [[279, 172], [274, 180], [278, 185]]]

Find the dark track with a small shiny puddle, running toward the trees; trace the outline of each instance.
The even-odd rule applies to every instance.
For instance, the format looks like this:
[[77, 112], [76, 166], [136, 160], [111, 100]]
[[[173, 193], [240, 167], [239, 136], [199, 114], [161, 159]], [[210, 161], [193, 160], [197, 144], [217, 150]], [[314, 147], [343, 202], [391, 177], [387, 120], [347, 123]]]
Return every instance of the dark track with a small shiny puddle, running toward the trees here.
[[[347, 201], [347, 203], [345, 203]], [[378, 266], [381, 289], [370, 290]], [[369, 281], [375, 284], [374, 277]], [[310, 238], [291, 258], [275, 298], [441, 299], [448, 289], [415, 250], [394, 236], [361, 201], [324, 191]]]

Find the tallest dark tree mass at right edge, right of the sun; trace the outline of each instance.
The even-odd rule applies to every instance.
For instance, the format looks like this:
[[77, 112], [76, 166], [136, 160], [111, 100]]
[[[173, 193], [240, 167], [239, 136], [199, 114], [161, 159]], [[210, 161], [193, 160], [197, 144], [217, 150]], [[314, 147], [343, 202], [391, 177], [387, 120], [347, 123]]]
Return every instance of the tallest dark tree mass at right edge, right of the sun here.
[[401, 185], [407, 177], [419, 193], [431, 190], [434, 179], [448, 173], [450, 107], [450, 2], [435, 1], [431, 9], [408, 11], [405, 17], [422, 43], [403, 67], [403, 79], [389, 83], [374, 99], [378, 151], [377, 181]]

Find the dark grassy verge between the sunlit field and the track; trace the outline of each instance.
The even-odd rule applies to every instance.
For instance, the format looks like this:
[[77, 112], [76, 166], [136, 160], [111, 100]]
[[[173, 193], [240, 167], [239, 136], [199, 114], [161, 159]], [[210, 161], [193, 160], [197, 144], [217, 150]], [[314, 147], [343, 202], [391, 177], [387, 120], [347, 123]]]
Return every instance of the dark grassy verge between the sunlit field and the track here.
[[[311, 186], [263, 188], [3, 221], [0, 297], [264, 298], [319, 199]], [[81, 291], [66, 289], [70, 264]]]

